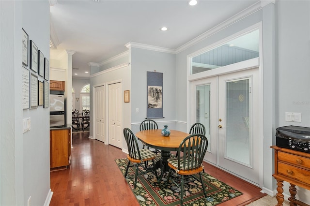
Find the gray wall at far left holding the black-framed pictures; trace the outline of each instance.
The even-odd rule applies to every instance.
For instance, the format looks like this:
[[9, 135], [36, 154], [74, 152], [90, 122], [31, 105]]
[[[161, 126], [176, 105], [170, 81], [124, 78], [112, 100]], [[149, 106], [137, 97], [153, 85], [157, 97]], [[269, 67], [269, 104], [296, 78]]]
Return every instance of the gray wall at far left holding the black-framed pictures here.
[[49, 59], [49, 3], [0, 1], [0, 13], [0, 205], [25, 206], [31, 196], [31, 205], [42, 206], [50, 189], [49, 109], [22, 109], [21, 31]]

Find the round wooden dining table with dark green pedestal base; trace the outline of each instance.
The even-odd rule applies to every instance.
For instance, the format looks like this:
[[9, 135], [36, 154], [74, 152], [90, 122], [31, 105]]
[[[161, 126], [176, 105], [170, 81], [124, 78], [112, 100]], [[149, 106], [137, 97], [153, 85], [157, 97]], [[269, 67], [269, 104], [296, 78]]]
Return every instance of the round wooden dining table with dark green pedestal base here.
[[161, 175], [163, 176], [165, 171], [169, 170], [167, 160], [170, 158], [171, 151], [177, 151], [181, 142], [190, 135], [186, 132], [177, 130], [170, 130], [169, 136], [163, 136], [160, 129], [156, 130], [143, 130], [136, 133], [136, 137], [145, 145], [161, 150], [161, 161], [157, 161], [155, 164], [156, 169], [161, 167]]

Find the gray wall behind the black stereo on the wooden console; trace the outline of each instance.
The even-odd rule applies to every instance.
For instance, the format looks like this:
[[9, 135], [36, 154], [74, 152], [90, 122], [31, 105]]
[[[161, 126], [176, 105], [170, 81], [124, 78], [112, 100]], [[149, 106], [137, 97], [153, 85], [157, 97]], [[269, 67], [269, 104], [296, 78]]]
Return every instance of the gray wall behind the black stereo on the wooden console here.
[[[310, 127], [310, 1], [277, 1], [276, 37], [276, 128]], [[285, 121], [285, 112], [300, 112], [301, 122]], [[310, 204], [310, 191], [296, 197]]]

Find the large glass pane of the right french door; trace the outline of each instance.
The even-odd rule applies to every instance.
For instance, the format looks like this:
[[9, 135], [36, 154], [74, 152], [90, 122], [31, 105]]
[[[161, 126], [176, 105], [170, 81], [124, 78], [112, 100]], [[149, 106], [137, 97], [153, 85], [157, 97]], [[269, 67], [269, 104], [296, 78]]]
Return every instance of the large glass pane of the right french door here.
[[226, 158], [250, 164], [249, 79], [226, 82]]

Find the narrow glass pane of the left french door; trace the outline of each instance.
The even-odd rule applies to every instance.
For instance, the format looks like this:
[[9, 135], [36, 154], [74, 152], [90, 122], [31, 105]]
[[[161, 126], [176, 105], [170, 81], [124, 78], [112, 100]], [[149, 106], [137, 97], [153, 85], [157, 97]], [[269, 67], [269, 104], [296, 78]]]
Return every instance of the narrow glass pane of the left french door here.
[[196, 87], [196, 122], [204, 125], [210, 150], [210, 85]]

